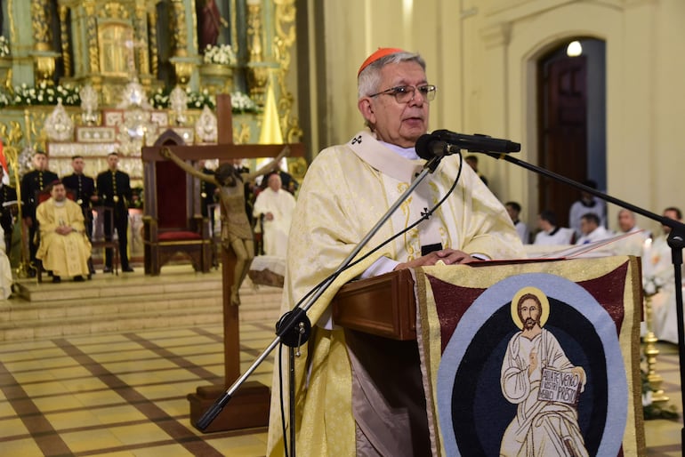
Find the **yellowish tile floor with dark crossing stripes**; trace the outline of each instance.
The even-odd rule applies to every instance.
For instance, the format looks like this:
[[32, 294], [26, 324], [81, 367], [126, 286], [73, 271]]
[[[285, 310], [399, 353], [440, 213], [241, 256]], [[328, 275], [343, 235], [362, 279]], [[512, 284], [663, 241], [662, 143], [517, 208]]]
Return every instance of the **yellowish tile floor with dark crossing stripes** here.
[[[245, 370], [272, 339], [271, 322], [241, 325]], [[222, 328], [17, 341], [0, 345], [0, 454], [261, 456], [266, 430], [202, 434], [186, 396], [222, 376]], [[679, 411], [678, 356], [659, 345], [657, 372]], [[270, 385], [272, 364], [252, 380]], [[647, 421], [647, 455], [681, 455], [682, 421]]]

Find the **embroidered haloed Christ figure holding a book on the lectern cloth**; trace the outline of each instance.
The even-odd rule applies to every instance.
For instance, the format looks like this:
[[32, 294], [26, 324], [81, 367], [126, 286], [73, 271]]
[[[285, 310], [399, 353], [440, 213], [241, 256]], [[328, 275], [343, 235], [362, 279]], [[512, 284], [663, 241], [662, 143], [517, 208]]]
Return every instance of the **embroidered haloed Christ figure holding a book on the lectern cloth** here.
[[517, 405], [517, 410], [516, 417], [504, 430], [499, 454], [507, 457], [587, 456], [578, 427], [576, 397], [569, 403], [538, 397], [544, 370], [569, 373], [575, 382], [568, 385], [577, 386], [576, 396], [584, 389], [585, 371], [574, 366], [554, 335], [542, 328], [550, 305], [541, 290], [525, 287], [514, 297], [514, 306], [521, 331], [514, 334], [507, 345], [501, 385], [504, 397]]

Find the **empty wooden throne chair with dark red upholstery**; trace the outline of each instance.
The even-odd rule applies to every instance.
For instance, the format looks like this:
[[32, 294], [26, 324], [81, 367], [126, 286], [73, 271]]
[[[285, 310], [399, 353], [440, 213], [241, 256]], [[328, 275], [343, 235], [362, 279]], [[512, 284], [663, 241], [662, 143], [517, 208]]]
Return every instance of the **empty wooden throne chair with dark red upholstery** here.
[[[172, 130], [155, 142], [156, 147], [184, 144]], [[157, 276], [166, 263], [181, 258], [207, 273], [212, 266], [212, 239], [209, 221], [200, 211], [197, 179], [160, 155], [143, 159], [143, 182], [145, 274]]]

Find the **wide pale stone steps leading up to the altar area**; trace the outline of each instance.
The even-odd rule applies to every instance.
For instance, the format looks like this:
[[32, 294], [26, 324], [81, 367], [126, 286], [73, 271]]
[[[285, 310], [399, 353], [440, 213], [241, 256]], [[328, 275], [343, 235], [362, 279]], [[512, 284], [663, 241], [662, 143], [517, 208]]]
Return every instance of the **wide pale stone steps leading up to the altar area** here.
[[[218, 273], [203, 275], [181, 269], [145, 277], [136, 271], [120, 277], [96, 275], [85, 283], [38, 285], [35, 280], [23, 280], [19, 287], [17, 298], [0, 301], [0, 341], [223, 321]], [[240, 321], [271, 321], [275, 325], [281, 293], [276, 287], [254, 287], [247, 279], [240, 288]]]

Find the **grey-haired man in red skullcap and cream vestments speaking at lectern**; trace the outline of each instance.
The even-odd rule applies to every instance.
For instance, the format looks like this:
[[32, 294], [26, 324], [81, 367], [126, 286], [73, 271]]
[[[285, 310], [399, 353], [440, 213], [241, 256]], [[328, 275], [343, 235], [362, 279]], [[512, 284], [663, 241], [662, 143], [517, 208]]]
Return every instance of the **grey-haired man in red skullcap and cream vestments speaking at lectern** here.
[[[399, 49], [379, 49], [359, 68], [358, 85], [358, 108], [369, 129], [356, 133], [346, 144], [321, 151], [305, 175], [288, 240], [284, 311], [292, 309], [338, 269], [425, 164], [416, 155], [415, 142], [428, 131], [429, 103], [436, 87], [426, 79], [423, 58]], [[289, 413], [284, 399], [286, 424], [296, 431], [298, 453], [431, 453], [429, 446], [415, 448], [414, 424], [407, 421], [402, 408], [394, 413], [375, 413], [375, 406], [383, 405], [383, 398], [378, 402], [369, 399], [374, 397], [374, 389], [358, 363], [359, 356], [364, 355], [351, 349], [349, 333], [332, 322], [328, 305], [338, 289], [353, 278], [439, 261], [454, 265], [524, 256], [523, 245], [503, 204], [468, 165], [460, 170], [455, 155], [442, 159], [437, 170], [383, 224], [359, 257], [420, 220], [427, 208], [447, 194], [447, 200], [431, 218], [342, 271], [310, 308], [308, 317], [313, 330], [307, 347], [302, 348], [304, 356], [295, 361], [294, 424], [287, 424]], [[415, 342], [412, 344], [411, 350], [418, 357]], [[388, 373], [393, 378], [404, 375], [400, 370]], [[284, 453], [278, 374], [277, 355], [269, 455]], [[410, 400], [423, 398], [422, 394]], [[426, 421], [425, 410], [422, 413]]]

